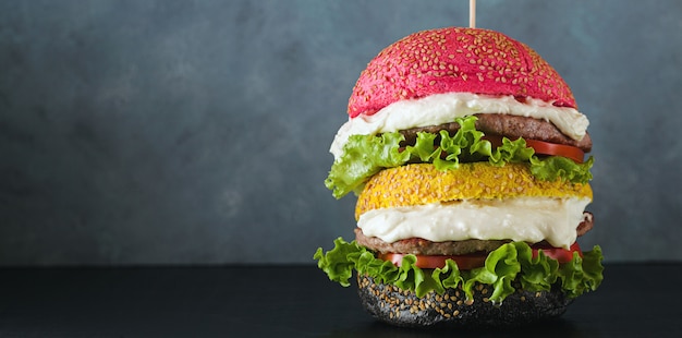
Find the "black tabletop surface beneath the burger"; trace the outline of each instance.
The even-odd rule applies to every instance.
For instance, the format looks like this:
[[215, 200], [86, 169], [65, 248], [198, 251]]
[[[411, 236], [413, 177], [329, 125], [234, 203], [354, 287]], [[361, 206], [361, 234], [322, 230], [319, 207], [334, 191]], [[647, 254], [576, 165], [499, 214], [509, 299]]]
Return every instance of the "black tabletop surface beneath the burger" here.
[[610, 264], [556, 321], [418, 330], [375, 322], [315, 266], [0, 269], [0, 337], [682, 337], [682, 263]]

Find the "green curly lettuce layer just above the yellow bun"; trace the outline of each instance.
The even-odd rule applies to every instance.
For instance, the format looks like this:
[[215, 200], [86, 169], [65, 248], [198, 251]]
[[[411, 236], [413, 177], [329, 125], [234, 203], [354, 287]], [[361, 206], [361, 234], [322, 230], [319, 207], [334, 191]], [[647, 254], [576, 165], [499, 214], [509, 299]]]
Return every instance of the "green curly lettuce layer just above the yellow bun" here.
[[[535, 150], [526, 147], [523, 138], [510, 141], [502, 138], [502, 145], [494, 148], [484, 140], [484, 133], [476, 130], [474, 116], [456, 118], [460, 129], [454, 135], [448, 131], [438, 134], [419, 132], [412, 146], [402, 147], [404, 136], [398, 132], [380, 135], [352, 135], [343, 147], [343, 155], [338, 158], [325, 180], [325, 185], [332, 190], [337, 198], [362, 191], [367, 180], [386, 168], [403, 166], [407, 162], [430, 162], [439, 170], [458, 169], [460, 162], [488, 160], [491, 166], [504, 166], [509, 162], [527, 162], [533, 176], [540, 180], [568, 180], [573, 183], [586, 183], [592, 180], [589, 169], [593, 158], [583, 164], [561, 157], [539, 158]], [[439, 140], [439, 142], [437, 142]]]

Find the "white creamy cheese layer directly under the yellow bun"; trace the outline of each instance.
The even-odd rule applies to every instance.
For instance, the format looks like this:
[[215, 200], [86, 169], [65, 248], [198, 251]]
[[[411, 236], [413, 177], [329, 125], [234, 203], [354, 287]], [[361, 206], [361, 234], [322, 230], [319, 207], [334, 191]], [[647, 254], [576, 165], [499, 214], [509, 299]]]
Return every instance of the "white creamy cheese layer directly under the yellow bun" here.
[[409, 238], [547, 241], [568, 249], [575, 242], [589, 202], [586, 197], [515, 197], [379, 208], [362, 214], [357, 227], [385, 242]]

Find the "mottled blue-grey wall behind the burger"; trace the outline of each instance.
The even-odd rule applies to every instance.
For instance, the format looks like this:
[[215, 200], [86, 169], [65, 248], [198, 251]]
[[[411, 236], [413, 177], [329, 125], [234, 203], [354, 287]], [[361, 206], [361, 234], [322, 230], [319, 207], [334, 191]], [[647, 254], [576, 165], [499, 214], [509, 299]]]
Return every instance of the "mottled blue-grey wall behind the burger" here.
[[[468, 1], [1, 1], [0, 265], [313, 263], [322, 182], [383, 47]], [[479, 0], [590, 119], [607, 262], [682, 259], [682, 1]]]

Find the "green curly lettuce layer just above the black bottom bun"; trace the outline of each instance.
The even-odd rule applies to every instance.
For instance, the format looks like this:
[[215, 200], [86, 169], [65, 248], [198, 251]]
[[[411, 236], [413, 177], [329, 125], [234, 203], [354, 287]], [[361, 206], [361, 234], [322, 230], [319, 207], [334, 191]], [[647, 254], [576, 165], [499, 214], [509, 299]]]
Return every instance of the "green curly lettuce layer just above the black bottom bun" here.
[[558, 283], [569, 298], [596, 290], [602, 280], [601, 249], [577, 253], [569, 263], [559, 264], [541, 251], [533, 258], [532, 249], [525, 242], [510, 242], [490, 252], [485, 265], [472, 270], [460, 270], [452, 259], [436, 269], [421, 269], [414, 264], [414, 255], [405, 255], [400, 267], [391, 262], [376, 258], [374, 253], [355, 241], [334, 240], [334, 248], [324, 252], [318, 248], [314, 258], [330, 280], [344, 287], [353, 270], [367, 275], [378, 282], [392, 283], [403, 290], [412, 290], [417, 297], [428, 292], [442, 294], [448, 288], [460, 286], [467, 299], [472, 299], [476, 282], [491, 286], [492, 302], [502, 302], [514, 292], [512, 281], [520, 280], [524, 290], [549, 290]]

